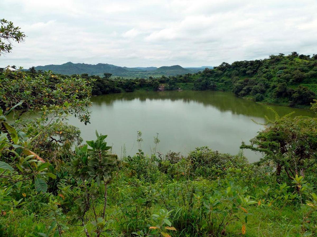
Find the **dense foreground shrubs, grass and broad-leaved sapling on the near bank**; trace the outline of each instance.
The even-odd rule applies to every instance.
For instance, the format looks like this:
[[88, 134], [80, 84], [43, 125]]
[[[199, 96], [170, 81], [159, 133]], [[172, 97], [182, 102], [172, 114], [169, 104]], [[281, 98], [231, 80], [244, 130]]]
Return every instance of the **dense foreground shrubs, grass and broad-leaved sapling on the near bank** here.
[[[289, 179], [281, 173], [278, 183], [274, 164], [248, 164], [243, 154], [219, 154], [207, 147], [185, 157], [173, 152], [149, 157], [140, 149], [118, 161], [108, 153], [106, 136], [96, 135], [95, 141], [87, 141], [90, 149], [87, 145], [76, 148], [62, 165], [41, 168], [46, 163], [40, 162], [44, 178], [36, 180], [47, 179], [47, 187], [40, 183], [34, 188], [26, 180], [7, 187], [7, 177], [1, 178], [4, 235], [317, 233], [316, 165], [306, 170], [305, 179], [300, 175]], [[4, 167], [6, 176], [14, 174], [11, 168]]]

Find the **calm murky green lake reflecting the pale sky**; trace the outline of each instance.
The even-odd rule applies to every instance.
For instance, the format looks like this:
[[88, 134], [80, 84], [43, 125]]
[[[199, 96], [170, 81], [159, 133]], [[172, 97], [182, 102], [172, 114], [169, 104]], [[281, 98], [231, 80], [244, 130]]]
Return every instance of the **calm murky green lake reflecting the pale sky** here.
[[[252, 121], [264, 123], [264, 116], [274, 118], [267, 105], [218, 91], [137, 91], [92, 97], [91, 124], [71, 117], [69, 123], [81, 130], [84, 141], [94, 140], [95, 130], [107, 134], [106, 141], [119, 157], [138, 150], [137, 131], [142, 131], [142, 150], [150, 154], [159, 133], [157, 151], [187, 155], [196, 147], [209, 146], [222, 153], [237, 154], [244, 141], [263, 129]], [[279, 115], [294, 111], [294, 116], [313, 116], [309, 110], [271, 106]], [[261, 154], [244, 150], [250, 162]]]

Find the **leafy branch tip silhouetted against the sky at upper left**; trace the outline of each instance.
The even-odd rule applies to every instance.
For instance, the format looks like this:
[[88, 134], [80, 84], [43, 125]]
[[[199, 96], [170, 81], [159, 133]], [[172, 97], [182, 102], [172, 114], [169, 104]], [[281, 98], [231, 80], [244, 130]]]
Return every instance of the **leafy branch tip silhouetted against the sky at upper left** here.
[[0, 56], [4, 53], [10, 53], [12, 50], [12, 41], [23, 42], [24, 32], [19, 27], [14, 27], [13, 22], [5, 19], [0, 20]]

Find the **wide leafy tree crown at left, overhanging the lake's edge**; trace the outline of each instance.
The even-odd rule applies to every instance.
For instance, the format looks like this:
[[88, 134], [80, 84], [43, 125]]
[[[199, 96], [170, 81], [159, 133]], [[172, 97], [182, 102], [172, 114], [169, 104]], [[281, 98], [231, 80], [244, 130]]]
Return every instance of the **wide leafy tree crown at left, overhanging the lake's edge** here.
[[89, 123], [91, 86], [90, 81], [80, 76], [62, 78], [48, 71], [30, 77], [24, 71], [4, 72], [0, 84], [0, 107], [3, 111], [23, 100], [18, 107], [17, 118], [31, 109], [53, 117], [76, 114], [82, 122]]

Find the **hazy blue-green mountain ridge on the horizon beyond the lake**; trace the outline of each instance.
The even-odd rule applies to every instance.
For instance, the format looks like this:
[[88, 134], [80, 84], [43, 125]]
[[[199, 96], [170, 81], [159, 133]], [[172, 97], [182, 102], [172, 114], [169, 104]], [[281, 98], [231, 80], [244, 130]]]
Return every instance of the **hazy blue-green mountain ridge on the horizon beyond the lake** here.
[[120, 67], [113, 64], [85, 64], [85, 63], [72, 63], [65, 64], [50, 64], [45, 66], [36, 66], [36, 70], [52, 70], [55, 73], [64, 75], [83, 74], [89, 75], [103, 75], [104, 73], [112, 73], [114, 76], [146, 76], [146, 75], [166, 75], [174, 76], [180, 74], [187, 74], [204, 70], [200, 68], [183, 68], [179, 65], [163, 66], [163, 67]]

